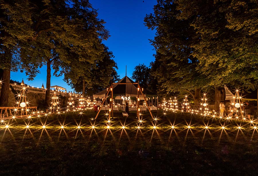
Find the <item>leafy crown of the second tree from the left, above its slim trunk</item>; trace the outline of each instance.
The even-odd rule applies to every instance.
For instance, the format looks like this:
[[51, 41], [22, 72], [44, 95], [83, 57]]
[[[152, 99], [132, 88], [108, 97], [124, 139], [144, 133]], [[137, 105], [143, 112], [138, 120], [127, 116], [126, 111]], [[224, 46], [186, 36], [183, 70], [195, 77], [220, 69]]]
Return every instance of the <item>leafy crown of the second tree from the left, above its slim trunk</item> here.
[[[54, 75], [60, 76], [62, 63], [73, 58], [95, 62], [103, 50], [101, 40], [107, 39], [108, 31], [97, 11], [86, 1], [39, 1], [33, 2], [32, 25], [34, 36], [21, 47], [23, 68], [33, 79], [38, 68], [46, 62], [52, 64]], [[60, 72], [62, 74], [62, 72]]]

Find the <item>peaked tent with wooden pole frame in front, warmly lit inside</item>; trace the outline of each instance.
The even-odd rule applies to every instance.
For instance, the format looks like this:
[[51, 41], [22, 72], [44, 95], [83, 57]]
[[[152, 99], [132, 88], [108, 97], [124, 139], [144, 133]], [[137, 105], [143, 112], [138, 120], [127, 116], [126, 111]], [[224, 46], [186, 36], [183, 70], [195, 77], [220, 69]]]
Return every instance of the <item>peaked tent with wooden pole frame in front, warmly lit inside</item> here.
[[[148, 90], [144, 90], [143, 88], [140, 87], [139, 83], [134, 82], [128, 76], [125, 76], [124, 78], [122, 78], [120, 81], [116, 83], [112, 83], [110, 87], [102, 90], [101, 92], [93, 94], [93, 98], [95, 98], [95, 100], [100, 100], [102, 102], [101, 108], [99, 109], [99, 111], [100, 110], [109, 110], [109, 112], [112, 111], [112, 117], [113, 117], [113, 110], [123, 110], [122, 106], [124, 105], [122, 105], [122, 102], [124, 102], [125, 100], [136, 100], [137, 106], [129, 107], [129, 111], [136, 111], [138, 118], [139, 118], [138, 114], [140, 111], [144, 109], [145, 111], [146, 109], [148, 109], [149, 111], [157, 110], [157, 105], [158, 105], [158, 96], [156, 94]], [[111, 101], [107, 102], [110, 99]], [[140, 100], [144, 100], [143, 102], [145, 104], [145, 107], [139, 104]], [[109, 105], [103, 106], [105, 102], [106, 104], [109, 104]], [[121, 107], [117, 105], [113, 106], [114, 103], [120, 104]], [[152, 106], [149, 106], [150, 103], [152, 104]]]

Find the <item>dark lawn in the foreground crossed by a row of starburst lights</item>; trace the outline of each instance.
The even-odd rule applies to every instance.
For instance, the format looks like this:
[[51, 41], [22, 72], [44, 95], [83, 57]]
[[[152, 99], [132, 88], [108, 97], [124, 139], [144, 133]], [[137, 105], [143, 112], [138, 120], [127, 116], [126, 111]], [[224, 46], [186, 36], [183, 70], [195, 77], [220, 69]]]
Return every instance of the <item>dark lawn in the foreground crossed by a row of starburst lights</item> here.
[[0, 174], [258, 174], [256, 123], [181, 112], [154, 115], [157, 120], [143, 114], [140, 123], [136, 114], [115, 113], [109, 129], [105, 114], [91, 120], [94, 112], [5, 120]]

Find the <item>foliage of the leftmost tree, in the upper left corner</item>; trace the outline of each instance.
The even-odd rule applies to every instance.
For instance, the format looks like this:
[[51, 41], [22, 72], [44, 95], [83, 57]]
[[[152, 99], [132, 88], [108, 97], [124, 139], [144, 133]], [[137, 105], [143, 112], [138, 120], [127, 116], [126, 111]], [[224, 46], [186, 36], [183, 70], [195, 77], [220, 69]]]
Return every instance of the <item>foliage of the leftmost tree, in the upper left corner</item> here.
[[30, 3], [0, 1], [0, 68], [17, 71], [20, 66], [18, 43], [33, 35]]

